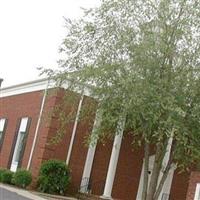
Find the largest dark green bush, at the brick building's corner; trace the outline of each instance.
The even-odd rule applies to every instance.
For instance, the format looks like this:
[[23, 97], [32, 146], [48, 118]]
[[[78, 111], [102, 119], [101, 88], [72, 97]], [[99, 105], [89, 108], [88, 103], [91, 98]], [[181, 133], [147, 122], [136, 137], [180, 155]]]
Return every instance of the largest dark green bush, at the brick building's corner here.
[[48, 160], [40, 168], [38, 189], [50, 194], [64, 194], [70, 182], [69, 174], [65, 162]]

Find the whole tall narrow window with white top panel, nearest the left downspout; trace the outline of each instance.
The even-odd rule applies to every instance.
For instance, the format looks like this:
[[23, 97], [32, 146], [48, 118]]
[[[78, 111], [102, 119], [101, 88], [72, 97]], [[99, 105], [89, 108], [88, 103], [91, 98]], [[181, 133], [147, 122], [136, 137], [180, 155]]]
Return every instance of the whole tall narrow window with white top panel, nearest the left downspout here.
[[28, 117], [24, 117], [20, 121], [19, 130], [17, 132], [17, 139], [12, 156], [11, 167], [10, 167], [10, 170], [13, 172], [17, 171], [17, 168], [20, 167], [21, 165], [26, 145], [26, 138], [28, 134], [29, 124], [30, 124], [30, 119]]

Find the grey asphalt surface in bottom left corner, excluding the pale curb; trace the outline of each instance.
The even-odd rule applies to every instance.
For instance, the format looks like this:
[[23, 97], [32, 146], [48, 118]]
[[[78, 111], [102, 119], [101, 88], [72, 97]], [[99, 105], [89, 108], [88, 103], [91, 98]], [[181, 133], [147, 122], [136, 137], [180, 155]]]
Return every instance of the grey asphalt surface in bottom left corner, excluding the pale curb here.
[[0, 187], [0, 200], [31, 200]]

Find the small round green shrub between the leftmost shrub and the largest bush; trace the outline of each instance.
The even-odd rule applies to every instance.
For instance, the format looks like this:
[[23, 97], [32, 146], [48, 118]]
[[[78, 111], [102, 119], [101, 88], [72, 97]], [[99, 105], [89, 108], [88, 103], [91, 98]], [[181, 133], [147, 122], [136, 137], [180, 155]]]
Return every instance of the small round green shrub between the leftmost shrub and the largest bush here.
[[25, 169], [19, 169], [13, 175], [12, 183], [18, 187], [26, 188], [28, 185], [31, 184], [32, 175], [30, 171]]

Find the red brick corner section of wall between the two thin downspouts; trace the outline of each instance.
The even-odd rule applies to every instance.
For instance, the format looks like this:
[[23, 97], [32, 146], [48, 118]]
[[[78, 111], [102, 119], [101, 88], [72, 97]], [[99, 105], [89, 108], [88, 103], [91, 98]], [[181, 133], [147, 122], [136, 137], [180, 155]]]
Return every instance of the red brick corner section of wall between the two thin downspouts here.
[[[67, 92], [66, 95], [73, 95], [73, 93]], [[73, 122], [67, 124], [66, 131], [60, 141], [55, 144], [52, 143], [52, 138], [57, 134], [58, 126], [60, 125], [58, 120], [58, 113], [53, 115], [53, 108], [57, 105], [61, 105], [64, 97], [64, 90], [51, 90], [45, 101], [42, 120], [39, 128], [39, 134], [33, 153], [31, 162], [31, 171], [34, 177], [37, 177], [41, 163], [49, 159], [66, 160], [69, 142], [71, 138]], [[75, 109], [77, 103], [75, 103]], [[65, 105], [65, 108], [61, 106], [61, 109], [65, 110], [68, 114], [71, 112], [70, 105]]]

